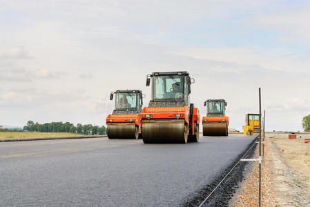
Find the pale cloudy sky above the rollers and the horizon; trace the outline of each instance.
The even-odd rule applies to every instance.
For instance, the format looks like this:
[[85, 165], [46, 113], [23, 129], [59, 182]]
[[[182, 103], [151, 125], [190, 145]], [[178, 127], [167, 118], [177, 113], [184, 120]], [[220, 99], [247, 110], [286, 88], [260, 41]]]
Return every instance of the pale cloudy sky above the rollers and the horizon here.
[[0, 125], [105, 124], [111, 91], [188, 71], [191, 102], [226, 99], [229, 128], [258, 112], [266, 130], [310, 114], [309, 1], [0, 0]]

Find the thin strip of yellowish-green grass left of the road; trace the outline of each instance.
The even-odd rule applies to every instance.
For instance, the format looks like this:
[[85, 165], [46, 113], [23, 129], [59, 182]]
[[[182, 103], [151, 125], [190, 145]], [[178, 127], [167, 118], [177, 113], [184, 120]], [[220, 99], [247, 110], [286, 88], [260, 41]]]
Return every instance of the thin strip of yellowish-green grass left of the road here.
[[0, 132], [0, 139], [29, 138], [29, 137], [73, 137], [81, 134], [68, 132]]

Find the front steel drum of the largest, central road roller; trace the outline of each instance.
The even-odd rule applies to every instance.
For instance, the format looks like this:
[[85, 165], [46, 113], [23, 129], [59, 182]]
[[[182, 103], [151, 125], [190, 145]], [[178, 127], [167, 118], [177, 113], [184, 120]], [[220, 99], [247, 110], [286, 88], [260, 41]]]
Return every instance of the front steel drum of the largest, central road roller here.
[[184, 120], [142, 120], [142, 138], [148, 143], [180, 143], [186, 144], [188, 137]]

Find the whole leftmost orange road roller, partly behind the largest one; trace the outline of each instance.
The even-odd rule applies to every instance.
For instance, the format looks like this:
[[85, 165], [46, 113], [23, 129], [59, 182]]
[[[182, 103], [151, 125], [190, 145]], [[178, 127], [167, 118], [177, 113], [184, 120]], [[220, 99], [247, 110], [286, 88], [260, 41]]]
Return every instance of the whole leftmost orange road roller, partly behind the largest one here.
[[106, 117], [106, 131], [109, 139], [138, 139], [141, 135], [141, 115], [143, 105], [142, 90], [117, 90], [115, 109]]

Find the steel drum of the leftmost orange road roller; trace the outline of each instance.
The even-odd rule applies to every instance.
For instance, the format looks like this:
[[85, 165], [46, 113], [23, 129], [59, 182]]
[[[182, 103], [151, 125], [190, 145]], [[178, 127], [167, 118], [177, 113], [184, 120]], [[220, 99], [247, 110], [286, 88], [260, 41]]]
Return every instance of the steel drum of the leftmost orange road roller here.
[[135, 124], [113, 123], [106, 127], [108, 139], [138, 139], [139, 128]]

